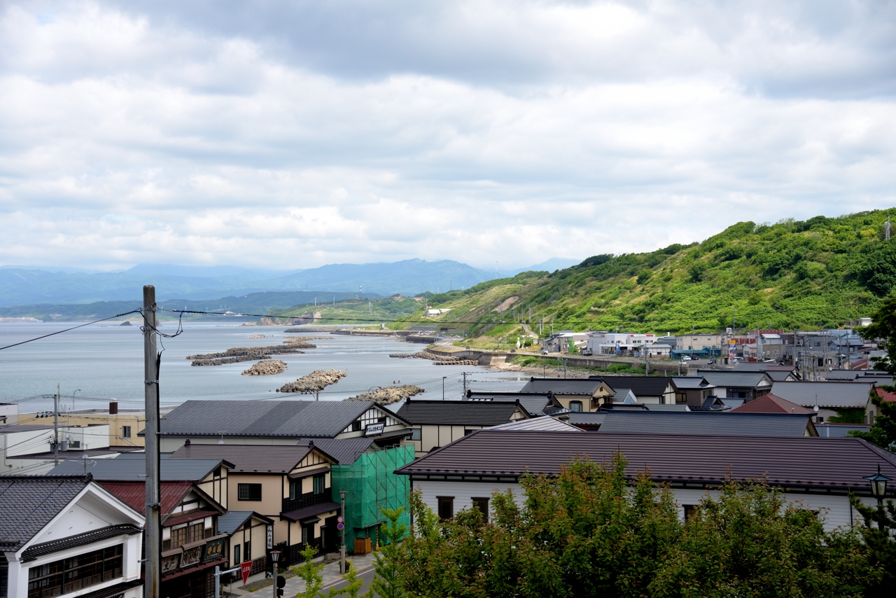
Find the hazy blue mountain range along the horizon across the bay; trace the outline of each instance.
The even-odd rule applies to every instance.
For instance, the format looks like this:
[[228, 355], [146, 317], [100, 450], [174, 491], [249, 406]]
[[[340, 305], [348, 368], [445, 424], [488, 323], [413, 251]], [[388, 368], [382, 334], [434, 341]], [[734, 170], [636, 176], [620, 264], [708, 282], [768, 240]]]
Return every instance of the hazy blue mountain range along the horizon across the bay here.
[[[551, 258], [525, 270], [553, 271], [573, 261]], [[0, 267], [0, 307], [89, 304], [100, 301], [134, 301], [144, 284], [154, 284], [159, 301], [211, 301], [222, 305], [229, 297], [263, 291], [317, 291], [388, 296], [444, 292], [469, 288], [495, 278], [494, 272], [452, 260], [426, 262], [411, 259], [377, 264], [330, 264], [307, 270], [272, 271], [238, 266], [182, 266], [138, 264], [122, 272], [77, 271], [37, 266]], [[332, 296], [331, 296], [332, 298]], [[292, 298], [293, 300], [297, 298]], [[286, 300], [280, 298], [277, 302]], [[288, 307], [302, 301], [293, 300]], [[3, 315], [9, 310], [0, 310]]]

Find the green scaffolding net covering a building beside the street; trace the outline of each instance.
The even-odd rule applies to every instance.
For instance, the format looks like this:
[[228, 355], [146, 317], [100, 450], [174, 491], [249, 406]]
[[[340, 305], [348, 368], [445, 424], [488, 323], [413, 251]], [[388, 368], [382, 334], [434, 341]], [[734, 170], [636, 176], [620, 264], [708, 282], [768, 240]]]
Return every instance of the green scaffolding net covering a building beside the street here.
[[385, 523], [383, 508], [404, 507], [400, 521], [410, 526], [408, 513], [409, 481], [395, 470], [414, 460], [414, 446], [394, 446], [362, 453], [354, 464], [332, 466], [333, 498], [345, 497], [345, 543], [352, 550], [356, 538], [371, 539], [376, 545], [380, 524]]

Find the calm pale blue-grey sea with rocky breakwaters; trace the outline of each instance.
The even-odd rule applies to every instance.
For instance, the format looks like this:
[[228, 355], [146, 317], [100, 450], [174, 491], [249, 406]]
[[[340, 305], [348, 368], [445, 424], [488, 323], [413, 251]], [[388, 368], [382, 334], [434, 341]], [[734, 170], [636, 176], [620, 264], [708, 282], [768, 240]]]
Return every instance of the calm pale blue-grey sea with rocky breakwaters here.
[[[0, 346], [56, 332], [72, 324], [3, 323]], [[159, 330], [173, 334], [177, 325], [164, 323]], [[435, 366], [429, 360], [390, 358], [390, 353], [413, 353], [425, 345], [366, 336], [307, 333], [323, 336], [312, 341], [317, 349], [295, 355], [274, 355], [287, 363], [279, 376], [240, 376], [254, 362], [214, 367], [193, 367], [187, 355], [226, 351], [231, 347], [280, 345], [285, 328], [250, 327], [233, 322], [189, 322], [184, 334], [161, 339], [159, 374], [162, 405], [177, 405], [189, 399], [295, 399], [308, 395], [273, 392], [283, 384], [315, 369], [341, 369], [348, 373], [320, 394], [321, 400], [341, 400], [364, 393], [375, 386], [414, 384], [426, 389], [421, 398], [460, 398], [461, 372], [468, 372], [468, 387], [474, 390], [519, 390], [527, 377], [476, 366]], [[250, 339], [250, 334], [265, 338]], [[63, 408], [105, 407], [117, 400], [122, 408], [143, 404], [143, 341], [139, 326], [96, 324], [65, 334], [0, 351], [0, 403], [21, 403], [21, 412], [51, 410], [56, 385], [63, 394]], [[75, 393], [76, 389], [80, 389]], [[313, 397], [313, 395], [312, 395]]]

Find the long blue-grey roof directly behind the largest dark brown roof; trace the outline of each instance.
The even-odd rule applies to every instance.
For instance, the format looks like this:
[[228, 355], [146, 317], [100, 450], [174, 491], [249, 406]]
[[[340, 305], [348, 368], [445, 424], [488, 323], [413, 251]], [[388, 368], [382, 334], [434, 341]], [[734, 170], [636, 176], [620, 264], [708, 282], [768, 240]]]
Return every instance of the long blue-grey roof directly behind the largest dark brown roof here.
[[606, 413], [601, 432], [650, 434], [720, 434], [726, 436], [803, 436], [808, 415], [732, 412], [636, 412]]

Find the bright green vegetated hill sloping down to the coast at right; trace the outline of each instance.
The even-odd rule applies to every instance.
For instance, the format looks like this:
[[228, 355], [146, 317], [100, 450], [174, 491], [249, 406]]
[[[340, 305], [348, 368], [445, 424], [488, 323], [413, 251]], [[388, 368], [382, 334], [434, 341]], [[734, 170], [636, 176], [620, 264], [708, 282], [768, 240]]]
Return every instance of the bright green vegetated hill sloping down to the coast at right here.
[[429, 303], [452, 308], [434, 320], [472, 335], [501, 321], [531, 322], [537, 330], [542, 318], [555, 330], [660, 334], [718, 331], [732, 316], [738, 328], [841, 326], [871, 314], [896, 285], [896, 239], [883, 238], [887, 216], [896, 237], [896, 208], [738, 222], [699, 244], [593, 256], [554, 273], [521, 273], [435, 295]]

